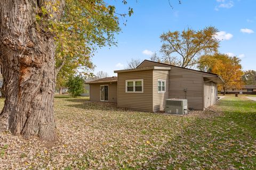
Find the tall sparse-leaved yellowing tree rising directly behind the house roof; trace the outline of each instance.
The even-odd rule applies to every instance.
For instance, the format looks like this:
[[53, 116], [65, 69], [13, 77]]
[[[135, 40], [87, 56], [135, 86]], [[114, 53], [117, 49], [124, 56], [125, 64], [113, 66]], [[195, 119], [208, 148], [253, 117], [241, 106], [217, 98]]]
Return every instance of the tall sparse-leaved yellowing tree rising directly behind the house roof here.
[[202, 30], [168, 31], [160, 36], [163, 43], [160, 54], [151, 56], [152, 61], [181, 67], [194, 67], [199, 56], [218, 51], [219, 40], [214, 38], [217, 29], [205, 27]]

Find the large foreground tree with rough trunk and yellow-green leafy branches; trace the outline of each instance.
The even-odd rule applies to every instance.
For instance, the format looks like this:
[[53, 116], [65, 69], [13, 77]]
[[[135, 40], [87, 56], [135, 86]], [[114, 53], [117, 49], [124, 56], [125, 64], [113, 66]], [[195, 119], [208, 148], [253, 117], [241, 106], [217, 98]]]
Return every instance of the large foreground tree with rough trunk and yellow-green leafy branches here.
[[[127, 4], [126, 1], [122, 1]], [[119, 18], [103, 0], [0, 0], [0, 63], [5, 105], [0, 131], [55, 141], [53, 97], [62, 67], [92, 68], [92, 53], [116, 45]], [[15, 21], [15, 22], [10, 22]], [[43, 108], [43, 109], [42, 109]]]

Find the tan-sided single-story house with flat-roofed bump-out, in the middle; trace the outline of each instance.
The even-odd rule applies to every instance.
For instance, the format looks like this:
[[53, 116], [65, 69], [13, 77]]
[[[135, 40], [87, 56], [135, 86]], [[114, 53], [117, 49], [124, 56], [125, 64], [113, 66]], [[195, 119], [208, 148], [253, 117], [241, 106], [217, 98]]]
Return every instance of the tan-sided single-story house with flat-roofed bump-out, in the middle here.
[[143, 61], [136, 69], [116, 70], [117, 77], [89, 82], [91, 101], [145, 112], [164, 110], [165, 99], [188, 99], [190, 109], [204, 110], [218, 100], [219, 75]]

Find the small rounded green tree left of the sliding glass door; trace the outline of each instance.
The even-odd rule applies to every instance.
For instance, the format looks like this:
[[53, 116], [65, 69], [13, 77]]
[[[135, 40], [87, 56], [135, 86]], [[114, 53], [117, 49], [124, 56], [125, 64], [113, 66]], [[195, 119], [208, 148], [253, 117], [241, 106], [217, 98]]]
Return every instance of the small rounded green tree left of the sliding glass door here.
[[71, 94], [72, 97], [77, 97], [84, 92], [84, 79], [77, 76], [71, 76], [66, 83], [68, 88], [68, 92]]

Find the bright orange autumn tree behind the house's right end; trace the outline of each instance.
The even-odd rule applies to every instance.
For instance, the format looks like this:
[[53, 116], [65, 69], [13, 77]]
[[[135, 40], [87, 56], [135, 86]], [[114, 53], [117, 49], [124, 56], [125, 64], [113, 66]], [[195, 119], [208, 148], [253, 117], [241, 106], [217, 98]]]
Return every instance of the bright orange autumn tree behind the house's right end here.
[[241, 60], [236, 56], [231, 57], [216, 53], [200, 57], [198, 69], [220, 75], [225, 81], [222, 88], [224, 90], [223, 95], [226, 95], [226, 89], [241, 89], [243, 71], [240, 63]]

